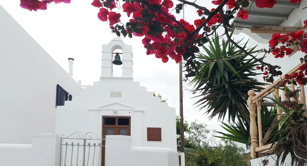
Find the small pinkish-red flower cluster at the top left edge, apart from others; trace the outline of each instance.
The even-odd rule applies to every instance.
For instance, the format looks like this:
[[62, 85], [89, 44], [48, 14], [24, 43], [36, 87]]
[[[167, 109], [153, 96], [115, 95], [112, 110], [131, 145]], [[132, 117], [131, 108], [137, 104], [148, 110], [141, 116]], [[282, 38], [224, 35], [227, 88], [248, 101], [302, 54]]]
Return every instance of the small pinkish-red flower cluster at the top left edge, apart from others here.
[[20, 0], [20, 7], [24, 8], [24, 9], [28, 9], [30, 11], [34, 10], [46, 10], [47, 9], [47, 5], [50, 3], [67, 3], [69, 4], [71, 2], [71, 0]]

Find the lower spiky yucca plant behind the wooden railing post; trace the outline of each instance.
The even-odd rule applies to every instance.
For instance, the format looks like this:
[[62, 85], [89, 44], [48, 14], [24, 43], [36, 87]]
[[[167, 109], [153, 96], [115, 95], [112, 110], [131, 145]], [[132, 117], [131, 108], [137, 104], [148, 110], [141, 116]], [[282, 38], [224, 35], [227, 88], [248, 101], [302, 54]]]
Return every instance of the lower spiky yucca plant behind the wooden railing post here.
[[[268, 129], [274, 123], [274, 118], [276, 117], [277, 110], [276, 108], [261, 107], [261, 126], [262, 126], [262, 136], [266, 136]], [[235, 142], [246, 144], [246, 148], [251, 144], [251, 136], [250, 136], [250, 118], [248, 116], [244, 117], [244, 120], [240, 118], [232, 124], [227, 124], [222, 122], [222, 128], [226, 130], [226, 132], [218, 132], [216, 133], [222, 134], [222, 136], [214, 136], [222, 139], [229, 139]], [[256, 123], [258, 124], [258, 119], [256, 118]], [[270, 142], [271, 140], [267, 140]], [[265, 142], [264, 142], [265, 144]]]

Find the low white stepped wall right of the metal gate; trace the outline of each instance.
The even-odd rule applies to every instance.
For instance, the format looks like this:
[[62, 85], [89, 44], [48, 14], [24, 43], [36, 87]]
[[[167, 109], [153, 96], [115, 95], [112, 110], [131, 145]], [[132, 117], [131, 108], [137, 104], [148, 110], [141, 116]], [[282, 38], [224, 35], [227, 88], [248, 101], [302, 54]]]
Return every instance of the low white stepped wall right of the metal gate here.
[[177, 151], [168, 148], [131, 147], [129, 136], [106, 136], [105, 166], [178, 166]]

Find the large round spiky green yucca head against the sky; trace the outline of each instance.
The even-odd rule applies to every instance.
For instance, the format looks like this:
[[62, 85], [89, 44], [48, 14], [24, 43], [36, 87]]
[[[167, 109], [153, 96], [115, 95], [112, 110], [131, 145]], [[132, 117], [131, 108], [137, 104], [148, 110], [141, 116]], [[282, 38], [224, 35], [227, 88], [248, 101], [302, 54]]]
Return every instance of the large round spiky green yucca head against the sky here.
[[[230, 36], [232, 34], [233, 31]], [[205, 113], [209, 118], [218, 116], [218, 119], [224, 120], [228, 112], [229, 121], [234, 121], [236, 117], [243, 119], [244, 115], [249, 114], [247, 92], [249, 90], [258, 92], [266, 84], [255, 79], [257, 73], [254, 68], [259, 65], [256, 60], [247, 57], [229, 41], [223, 39], [220, 43], [218, 37], [219, 35], [215, 33], [208, 42], [209, 48], [203, 47], [206, 53], [196, 56], [202, 66], [190, 84], [195, 84], [194, 92], [200, 93], [195, 97], [202, 98], [195, 104], [200, 109], [206, 109]], [[241, 42], [242, 40], [237, 44], [240, 45]], [[242, 47], [250, 54], [259, 52], [255, 47], [248, 49], [247, 43]]]

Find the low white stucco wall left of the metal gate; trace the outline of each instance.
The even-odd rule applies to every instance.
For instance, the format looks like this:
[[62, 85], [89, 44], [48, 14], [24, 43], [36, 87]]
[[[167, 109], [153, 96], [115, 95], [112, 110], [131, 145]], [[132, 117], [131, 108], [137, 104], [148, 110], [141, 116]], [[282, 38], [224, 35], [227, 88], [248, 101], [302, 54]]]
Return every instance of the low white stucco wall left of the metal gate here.
[[0, 165], [59, 166], [59, 148], [56, 134], [33, 134], [32, 144], [0, 143]]

